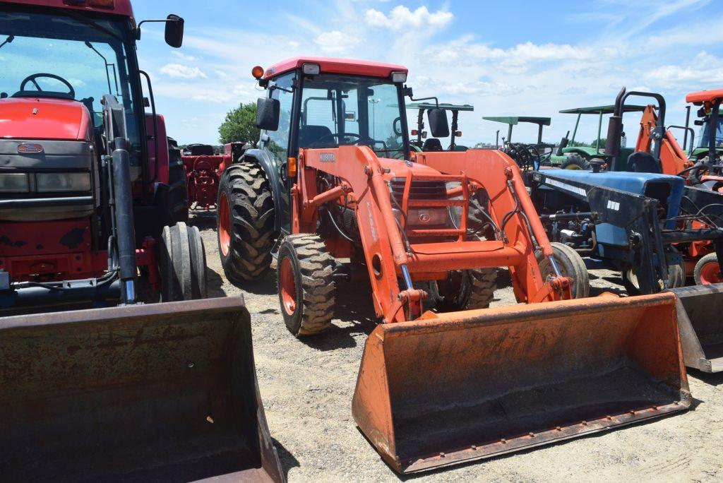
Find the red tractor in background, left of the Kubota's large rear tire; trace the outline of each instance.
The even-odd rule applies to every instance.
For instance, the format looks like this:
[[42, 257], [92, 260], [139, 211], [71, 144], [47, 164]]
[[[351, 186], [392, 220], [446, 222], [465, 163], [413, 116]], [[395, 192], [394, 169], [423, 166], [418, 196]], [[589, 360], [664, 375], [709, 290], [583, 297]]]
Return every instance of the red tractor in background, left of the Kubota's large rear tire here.
[[223, 154], [216, 154], [210, 145], [186, 146], [182, 159], [188, 184], [189, 209], [216, 208], [218, 181], [221, 179], [221, 174], [226, 166], [241, 158], [244, 146], [244, 142], [230, 142], [223, 146]]

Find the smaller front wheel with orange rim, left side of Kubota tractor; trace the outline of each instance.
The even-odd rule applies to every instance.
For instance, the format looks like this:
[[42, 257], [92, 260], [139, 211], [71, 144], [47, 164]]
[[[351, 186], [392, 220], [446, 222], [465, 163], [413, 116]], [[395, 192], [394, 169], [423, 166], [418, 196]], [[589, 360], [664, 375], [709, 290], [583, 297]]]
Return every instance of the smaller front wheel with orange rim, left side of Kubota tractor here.
[[278, 252], [276, 280], [281, 314], [289, 332], [324, 332], [334, 317], [335, 260], [316, 235], [290, 235]]

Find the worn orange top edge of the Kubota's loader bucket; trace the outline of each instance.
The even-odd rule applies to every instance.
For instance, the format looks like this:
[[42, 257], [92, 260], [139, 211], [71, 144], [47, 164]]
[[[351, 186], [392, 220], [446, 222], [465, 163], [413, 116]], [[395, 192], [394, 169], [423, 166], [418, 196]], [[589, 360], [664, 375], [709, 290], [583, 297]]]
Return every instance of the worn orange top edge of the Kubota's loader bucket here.
[[[380, 324], [375, 328], [385, 338], [404, 336], [410, 332], [423, 334], [435, 333], [455, 328], [471, 328], [480, 326], [520, 324], [539, 319], [541, 309], [557, 317], [570, 317], [584, 315], [586, 312], [599, 314], [612, 312], [617, 309], [645, 309], [661, 305], [675, 305], [677, 297], [670, 293], [642, 295], [633, 297], [598, 296], [591, 299], [563, 300], [557, 302], [543, 302], [540, 304], [521, 304], [511, 307], [492, 307], [489, 309], [468, 310], [463, 312], [448, 312], [432, 314], [428, 319], [413, 320], [411, 322], [395, 322], [393, 324]], [[428, 312], [429, 313], [429, 312]]]

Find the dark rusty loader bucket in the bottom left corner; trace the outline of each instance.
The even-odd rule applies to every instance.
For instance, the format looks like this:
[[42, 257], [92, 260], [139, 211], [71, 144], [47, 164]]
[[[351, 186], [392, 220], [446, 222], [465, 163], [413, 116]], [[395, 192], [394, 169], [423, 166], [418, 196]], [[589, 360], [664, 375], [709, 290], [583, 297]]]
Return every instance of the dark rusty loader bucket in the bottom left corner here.
[[0, 479], [282, 482], [240, 297], [0, 320]]

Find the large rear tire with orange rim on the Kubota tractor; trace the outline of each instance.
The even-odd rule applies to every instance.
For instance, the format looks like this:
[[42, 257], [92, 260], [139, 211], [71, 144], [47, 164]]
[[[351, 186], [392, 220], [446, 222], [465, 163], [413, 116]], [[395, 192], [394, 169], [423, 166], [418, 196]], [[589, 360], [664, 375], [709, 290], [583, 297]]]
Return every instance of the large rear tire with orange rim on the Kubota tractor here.
[[271, 187], [261, 166], [235, 163], [218, 187], [218, 253], [226, 278], [241, 284], [260, 280], [271, 266], [276, 238]]

